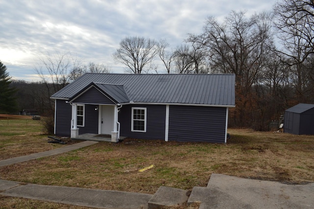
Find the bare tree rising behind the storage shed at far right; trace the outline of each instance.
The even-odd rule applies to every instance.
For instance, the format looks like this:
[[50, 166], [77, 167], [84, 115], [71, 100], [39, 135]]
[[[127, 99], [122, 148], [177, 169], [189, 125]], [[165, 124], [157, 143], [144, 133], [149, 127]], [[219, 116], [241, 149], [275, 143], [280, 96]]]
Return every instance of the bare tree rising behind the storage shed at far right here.
[[309, 84], [313, 86], [314, 82], [314, 66], [311, 64], [314, 53], [314, 2], [281, 0], [274, 5], [274, 14], [277, 36], [283, 46], [277, 52], [292, 70], [297, 100], [306, 102], [313, 91]]

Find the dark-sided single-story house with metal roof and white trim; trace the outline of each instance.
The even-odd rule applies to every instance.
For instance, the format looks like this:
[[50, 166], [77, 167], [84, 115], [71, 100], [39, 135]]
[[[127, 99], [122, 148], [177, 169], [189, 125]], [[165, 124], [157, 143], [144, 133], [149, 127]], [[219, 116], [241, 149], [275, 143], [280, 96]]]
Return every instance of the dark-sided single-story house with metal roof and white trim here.
[[235, 75], [87, 73], [51, 99], [56, 135], [226, 143]]

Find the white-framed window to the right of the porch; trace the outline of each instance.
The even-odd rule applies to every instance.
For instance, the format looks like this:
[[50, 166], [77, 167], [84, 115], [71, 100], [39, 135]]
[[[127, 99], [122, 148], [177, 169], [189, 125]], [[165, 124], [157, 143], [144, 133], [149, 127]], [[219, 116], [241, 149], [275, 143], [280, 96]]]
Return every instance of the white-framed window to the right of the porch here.
[[132, 107], [131, 131], [146, 132], [146, 107]]

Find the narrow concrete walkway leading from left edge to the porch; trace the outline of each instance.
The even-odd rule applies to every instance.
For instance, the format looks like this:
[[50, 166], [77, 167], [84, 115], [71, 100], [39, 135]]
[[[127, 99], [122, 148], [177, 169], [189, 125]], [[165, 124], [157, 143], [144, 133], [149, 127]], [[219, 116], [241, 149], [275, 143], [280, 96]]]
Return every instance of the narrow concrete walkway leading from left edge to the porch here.
[[72, 150], [77, 150], [77, 149], [80, 149], [83, 147], [87, 147], [87, 146], [90, 146], [90, 145], [93, 145], [96, 143], [98, 143], [98, 142], [97, 141], [83, 141], [80, 143], [65, 145], [64, 147], [60, 147], [60, 148], [57, 148], [54, 150], [49, 150], [49, 151], [45, 151], [45, 152], [41, 152], [41, 153], [34, 153], [31, 155], [27, 155], [27, 156], [4, 159], [4, 160], [0, 160], [0, 166], [6, 166], [6, 165], [19, 163], [19, 162], [25, 162], [25, 161], [37, 159], [40, 157], [48, 157], [48, 156], [58, 155], [61, 153], [66, 153], [66, 152], [70, 152]]

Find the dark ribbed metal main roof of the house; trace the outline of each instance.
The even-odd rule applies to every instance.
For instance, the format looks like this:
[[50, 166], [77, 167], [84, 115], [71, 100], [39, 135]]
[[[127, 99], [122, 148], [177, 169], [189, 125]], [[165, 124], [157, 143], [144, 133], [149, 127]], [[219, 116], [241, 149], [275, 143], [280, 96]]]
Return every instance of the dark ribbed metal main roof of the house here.
[[[110, 95], [118, 93], [118, 86], [123, 85], [126, 95], [122, 100], [128, 97], [134, 103], [235, 105], [234, 74], [87, 73], [53, 94], [52, 98], [72, 98], [91, 82], [102, 83], [99, 87], [111, 92]], [[114, 84], [115, 90], [110, 89], [109, 84]]]

